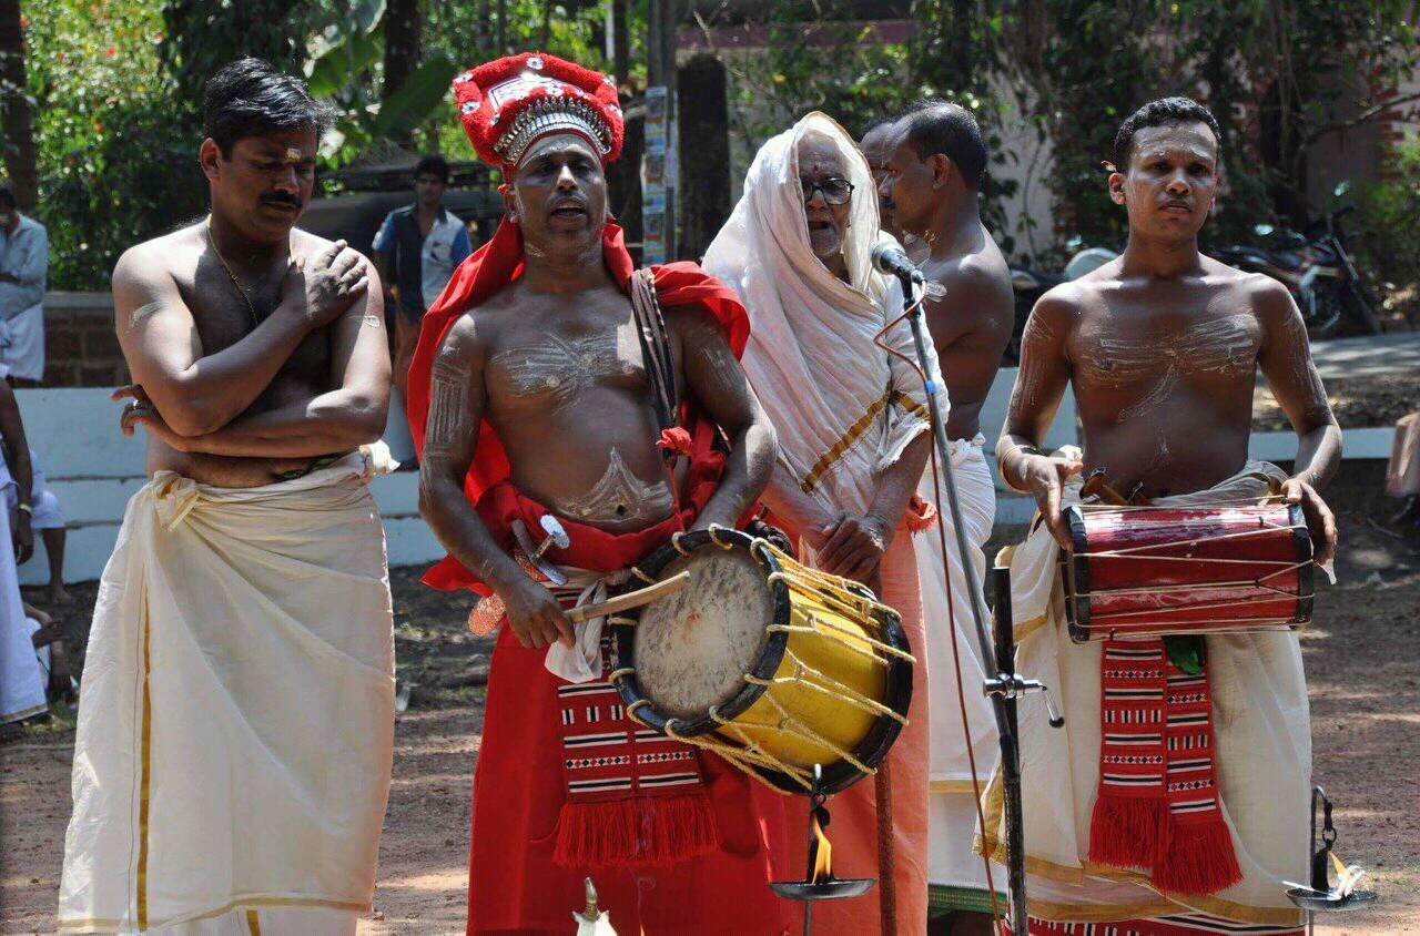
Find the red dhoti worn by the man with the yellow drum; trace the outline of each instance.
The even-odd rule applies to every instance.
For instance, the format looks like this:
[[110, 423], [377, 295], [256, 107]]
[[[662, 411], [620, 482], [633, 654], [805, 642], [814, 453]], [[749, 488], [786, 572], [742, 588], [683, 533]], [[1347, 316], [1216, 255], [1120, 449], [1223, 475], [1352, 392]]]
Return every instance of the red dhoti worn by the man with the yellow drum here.
[[[693, 477], [704, 477], [696, 467]], [[493, 530], [514, 516], [535, 530], [544, 513], [506, 483], [480, 503]], [[615, 572], [683, 520], [622, 535], [562, 520], [572, 545], [550, 555]], [[430, 579], [453, 584], [437, 570]], [[799, 908], [768, 888], [785, 866], [785, 808], [795, 801], [628, 719], [605, 683], [554, 676], [547, 652], [524, 648], [507, 626], [493, 652], [473, 781], [467, 932], [567, 933], [586, 878], [622, 933], [795, 927]]]

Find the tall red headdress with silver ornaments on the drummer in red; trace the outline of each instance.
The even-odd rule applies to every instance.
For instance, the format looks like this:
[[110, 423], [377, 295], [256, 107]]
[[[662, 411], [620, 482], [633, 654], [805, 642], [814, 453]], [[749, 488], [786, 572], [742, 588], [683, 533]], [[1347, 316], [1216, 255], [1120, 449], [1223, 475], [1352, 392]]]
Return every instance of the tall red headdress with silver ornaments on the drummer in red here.
[[463, 72], [453, 92], [474, 151], [496, 166], [517, 166], [552, 134], [585, 136], [604, 163], [621, 155], [616, 84], [591, 68], [523, 53]]

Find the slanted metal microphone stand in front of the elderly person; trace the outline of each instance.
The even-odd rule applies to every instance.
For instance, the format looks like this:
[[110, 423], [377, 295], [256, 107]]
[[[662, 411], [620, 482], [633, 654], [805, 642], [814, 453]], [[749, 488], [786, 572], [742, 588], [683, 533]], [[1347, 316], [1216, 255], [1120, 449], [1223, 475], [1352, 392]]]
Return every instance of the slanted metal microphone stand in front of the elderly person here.
[[[951, 470], [951, 446], [947, 442], [947, 426], [941, 420], [941, 409], [937, 406], [937, 382], [927, 369], [927, 338], [923, 325], [922, 304], [913, 307], [913, 287], [922, 280], [920, 273], [897, 273], [903, 287], [903, 312], [912, 327], [912, 339], [917, 348], [917, 362], [927, 381], [927, 413], [932, 420], [932, 435], [937, 446], [937, 462], [941, 464], [941, 479], [946, 481], [947, 506], [951, 511], [951, 526], [956, 531], [957, 551], [961, 557], [961, 574], [967, 582], [967, 595], [971, 601], [971, 621], [976, 628], [977, 643], [980, 645], [981, 666], [987, 673], [983, 692], [991, 697], [991, 709], [995, 713], [995, 727], [1001, 739], [1001, 780], [1005, 805], [1007, 828], [1007, 889], [1010, 893], [1010, 923], [1012, 936], [1027, 936], [1025, 902], [1025, 824], [1021, 812], [1021, 750], [1017, 737], [1015, 700], [1030, 692], [1045, 692], [1045, 685], [1038, 679], [1022, 679], [1015, 673], [1014, 639], [1011, 621], [1011, 572], [1008, 568], [994, 568], [995, 584], [995, 641], [987, 636], [985, 595], [981, 582], [977, 581], [976, 567], [967, 560], [967, 534], [961, 523], [961, 507], [957, 501], [957, 483]], [[940, 523], [940, 510], [939, 520]], [[950, 562], [943, 558], [946, 575], [950, 577]], [[953, 635], [953, 639], [956, 636]], [[1051, 727], [1065, 723], [1055, 712], [1051, 697], [1045, 695], [1045, 704], [1049, 712]], [[983, 837], [988, 829], [981, 829]]]

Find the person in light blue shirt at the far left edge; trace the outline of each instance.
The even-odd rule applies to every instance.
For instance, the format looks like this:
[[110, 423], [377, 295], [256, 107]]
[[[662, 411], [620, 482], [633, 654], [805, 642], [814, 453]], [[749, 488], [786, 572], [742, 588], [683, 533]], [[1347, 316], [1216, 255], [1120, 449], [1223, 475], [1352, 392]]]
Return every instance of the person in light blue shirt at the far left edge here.
[[0, 185], [0, 365], [13, 386], [44, 379], [44, 281], [50, 234], [20, 213], [10, 186]]

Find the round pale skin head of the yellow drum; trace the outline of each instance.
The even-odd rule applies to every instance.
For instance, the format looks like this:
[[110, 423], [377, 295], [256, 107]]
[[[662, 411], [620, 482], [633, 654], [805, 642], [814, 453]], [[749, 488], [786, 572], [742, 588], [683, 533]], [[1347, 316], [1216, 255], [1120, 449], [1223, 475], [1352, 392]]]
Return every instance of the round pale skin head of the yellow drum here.
[[774, 595], [746, 548], [701, 547], [659, 577], [680, 571], [690, 572], [690, 585], [642, 609], [633, 653], [636, 679], [657, 712], [693, 719], [744, 689], [768, 642]]

